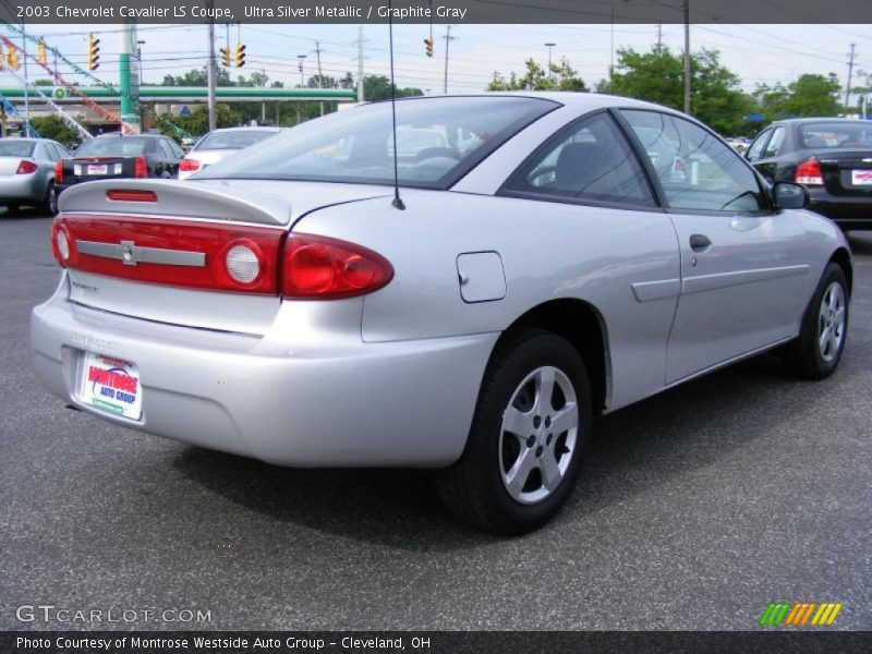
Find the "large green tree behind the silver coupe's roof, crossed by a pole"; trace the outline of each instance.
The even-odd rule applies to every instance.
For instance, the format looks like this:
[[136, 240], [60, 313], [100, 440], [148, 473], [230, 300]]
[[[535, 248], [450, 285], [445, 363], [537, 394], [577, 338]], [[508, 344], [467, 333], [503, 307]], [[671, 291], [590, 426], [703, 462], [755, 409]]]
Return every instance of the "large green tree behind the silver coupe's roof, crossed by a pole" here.
[[[738, 75], [720, 63], [717, 50], [703, 48], [690, 57], [691, 113], [723, 134], [739, 134], [747, 128], [746, 114], [753, 108], [739, 89]], [[685, 104], [685, 65], [681, 53], [669, 48], [637, 52], [618, 50], [618, 64], [600, 93], [639, 98], [681, 110]]]

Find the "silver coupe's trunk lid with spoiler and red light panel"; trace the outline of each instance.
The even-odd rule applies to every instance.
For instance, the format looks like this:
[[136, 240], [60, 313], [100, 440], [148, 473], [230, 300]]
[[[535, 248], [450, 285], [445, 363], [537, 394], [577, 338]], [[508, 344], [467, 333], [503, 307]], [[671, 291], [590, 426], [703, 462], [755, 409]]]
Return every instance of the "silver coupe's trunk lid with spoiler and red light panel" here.
[[92, 182], [61, 194], [52, 242], [59, 256], [58, 231], [64, 232], [70, 299], [77, 304], [259, 335], [281, 303], [281, 249], [293, 221], [322, 206], [384, 194], [384, 187], [302, 182]]

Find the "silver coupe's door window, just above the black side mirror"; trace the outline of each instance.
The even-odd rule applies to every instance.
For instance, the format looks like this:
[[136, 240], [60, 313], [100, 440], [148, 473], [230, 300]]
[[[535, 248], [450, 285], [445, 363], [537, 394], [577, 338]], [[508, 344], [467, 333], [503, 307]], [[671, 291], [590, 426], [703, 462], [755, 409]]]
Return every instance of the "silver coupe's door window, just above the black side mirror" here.
[[[756, 177], [727, 145], [701, 126], [657, 111], [621, 111], [640, 135], [669, 206], [756, 211], [764, 205]], [[654, 148], [663, 153], [655, 155]], [[664, 165], [663, 156], [670, 158]]]

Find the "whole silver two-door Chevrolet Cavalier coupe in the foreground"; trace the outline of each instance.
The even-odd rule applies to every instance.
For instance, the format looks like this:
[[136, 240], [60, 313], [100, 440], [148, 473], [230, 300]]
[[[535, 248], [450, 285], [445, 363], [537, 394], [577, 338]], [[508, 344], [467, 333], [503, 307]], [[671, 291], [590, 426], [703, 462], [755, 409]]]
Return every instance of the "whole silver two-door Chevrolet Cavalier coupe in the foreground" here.
[[396, 110], [404, 210], [389, 104], [185, 183], [66, 191], [41, 382], [264, 461], [439, 468], [456, 514], [520, 533], [571, 492], [592, 415], [776, 348], [838, 364], [844, 235], [704, 125], [589, 94]]

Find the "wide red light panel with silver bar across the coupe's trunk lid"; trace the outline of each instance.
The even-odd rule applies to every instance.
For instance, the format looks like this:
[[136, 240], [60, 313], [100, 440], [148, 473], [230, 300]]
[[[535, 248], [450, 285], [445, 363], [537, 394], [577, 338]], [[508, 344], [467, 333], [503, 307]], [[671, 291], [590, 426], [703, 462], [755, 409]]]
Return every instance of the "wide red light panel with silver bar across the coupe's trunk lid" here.
[[[60, 229], [64, 230], [70, 246], [65, 262], [59, 258], [56, 231]], [[286, 234], [283, 229], [268, 227], [76, 215], [56, 220], [52, 250], [61, 265], [97, 275], [210, 291], [278, 295], [279, 254]], [[122, 259], [125, 252], [122, 241], [132, 243], [129, 251], [132, 261], [128, 263]], [[109, 250], [107, 255], [106, 244], [118, 247], [114, 252]], [[203, 256], [191, 262], [191, 253]], [[172, 263], [173, 257], [182, 263]]]

